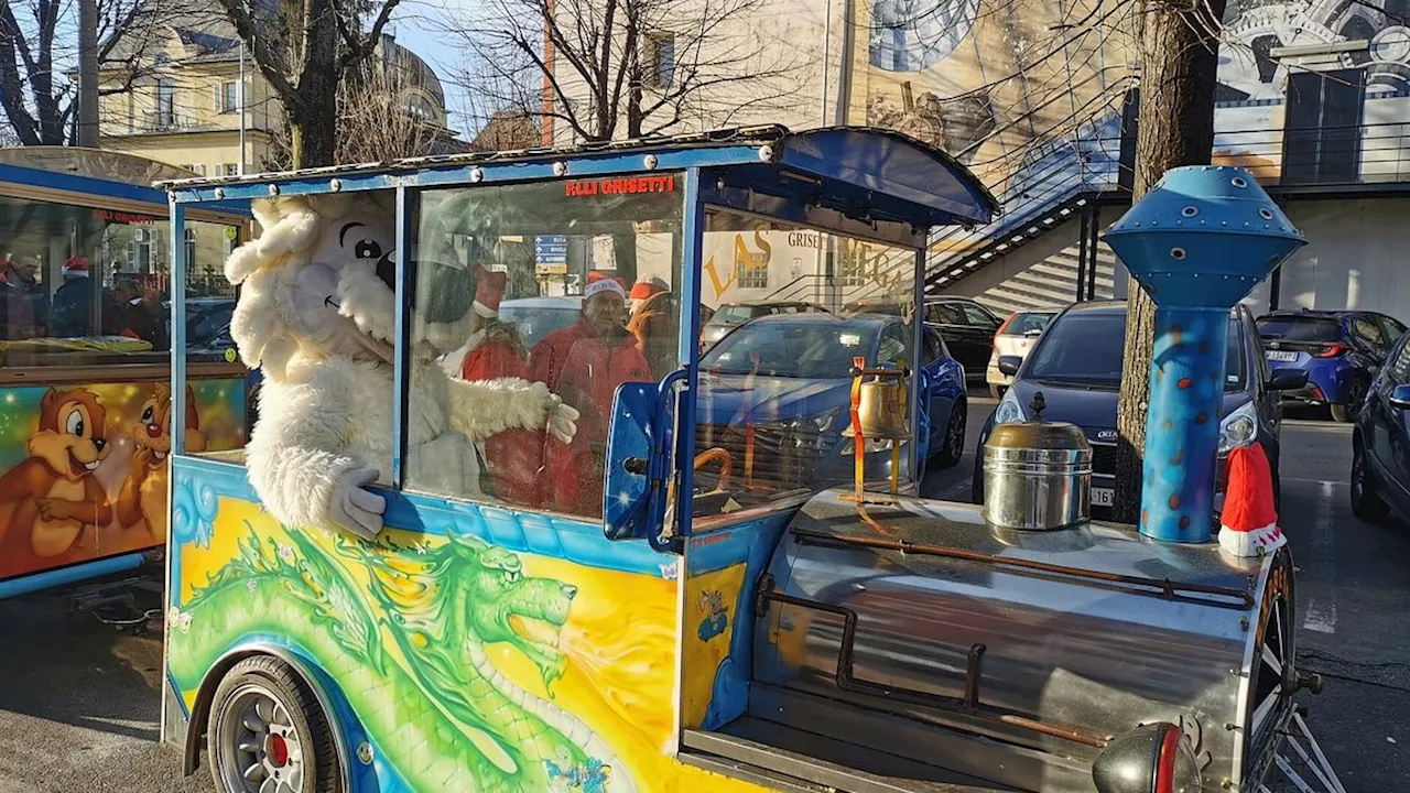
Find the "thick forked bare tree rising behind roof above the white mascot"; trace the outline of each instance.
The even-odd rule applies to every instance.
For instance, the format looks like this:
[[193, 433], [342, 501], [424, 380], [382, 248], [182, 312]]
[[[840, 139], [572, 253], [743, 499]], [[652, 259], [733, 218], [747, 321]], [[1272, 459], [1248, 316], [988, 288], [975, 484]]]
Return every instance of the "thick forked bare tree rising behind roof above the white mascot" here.
[[290, 165], [336, 164], [338, 83], [372, 56], [400, 0], [217, 1], [283, 104]]

